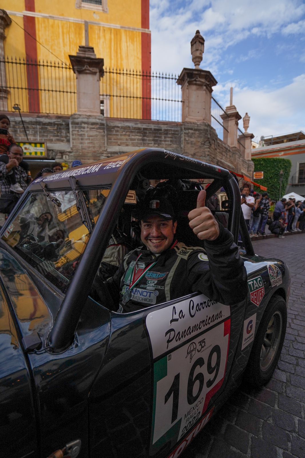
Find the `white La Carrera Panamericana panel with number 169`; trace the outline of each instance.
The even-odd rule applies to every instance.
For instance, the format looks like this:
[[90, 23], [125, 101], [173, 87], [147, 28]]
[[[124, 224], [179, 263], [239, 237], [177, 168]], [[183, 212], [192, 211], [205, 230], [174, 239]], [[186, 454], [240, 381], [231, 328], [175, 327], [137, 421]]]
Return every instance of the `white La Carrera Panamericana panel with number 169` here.
[[222, 386], [230, 307], [199, 295], [146, 317], [153, 355], [151, 452], [178, 442]]

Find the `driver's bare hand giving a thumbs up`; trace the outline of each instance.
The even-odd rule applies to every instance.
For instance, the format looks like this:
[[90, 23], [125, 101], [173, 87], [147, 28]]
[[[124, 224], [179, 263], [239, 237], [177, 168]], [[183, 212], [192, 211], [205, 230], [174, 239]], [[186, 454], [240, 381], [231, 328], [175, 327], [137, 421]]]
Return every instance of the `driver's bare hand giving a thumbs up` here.
[[200, 240], [215, 240], [219, 235], [219, 226], [211, 211], [205, 206], [206, 191], [199, 192], [197, 207], [187, 215], [190, 220], [190, 228]]

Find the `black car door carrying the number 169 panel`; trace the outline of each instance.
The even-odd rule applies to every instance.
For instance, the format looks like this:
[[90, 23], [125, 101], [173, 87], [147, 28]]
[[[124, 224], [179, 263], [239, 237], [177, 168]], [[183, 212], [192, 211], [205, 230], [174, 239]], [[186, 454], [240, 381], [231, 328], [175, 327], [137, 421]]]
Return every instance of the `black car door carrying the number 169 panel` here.
[[89, 396], [91, 456], [182, 451], [218, 406], [244, 312], [244, 302], [229, 306], [192, 294], [113, 313], [103, 368]]

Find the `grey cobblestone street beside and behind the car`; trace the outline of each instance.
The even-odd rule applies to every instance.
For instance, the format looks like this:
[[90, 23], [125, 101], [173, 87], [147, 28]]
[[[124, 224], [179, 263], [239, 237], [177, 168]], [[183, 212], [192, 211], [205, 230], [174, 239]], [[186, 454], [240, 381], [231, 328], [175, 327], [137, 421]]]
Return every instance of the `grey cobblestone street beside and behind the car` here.
[[184, 458], [305, 457], [305, 234], [258, 240], [256, 254], [288, 264], [291, 289], [283, 350], [261, 390], [245, 383], [183, 454]]

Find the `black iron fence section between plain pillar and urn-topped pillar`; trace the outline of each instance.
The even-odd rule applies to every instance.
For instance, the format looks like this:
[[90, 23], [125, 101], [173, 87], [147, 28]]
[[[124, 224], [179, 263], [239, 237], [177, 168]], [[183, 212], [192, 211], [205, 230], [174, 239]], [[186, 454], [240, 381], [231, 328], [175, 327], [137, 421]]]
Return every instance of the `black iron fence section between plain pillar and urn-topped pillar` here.
[[181, 121], [178, 76], [105, 68], [101, 113], [110, 118]]

